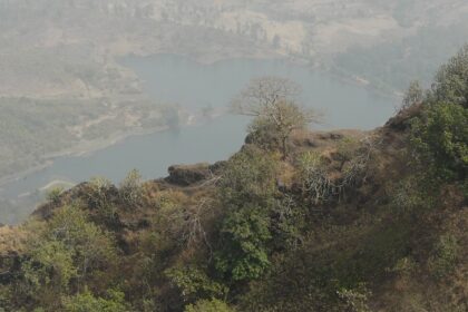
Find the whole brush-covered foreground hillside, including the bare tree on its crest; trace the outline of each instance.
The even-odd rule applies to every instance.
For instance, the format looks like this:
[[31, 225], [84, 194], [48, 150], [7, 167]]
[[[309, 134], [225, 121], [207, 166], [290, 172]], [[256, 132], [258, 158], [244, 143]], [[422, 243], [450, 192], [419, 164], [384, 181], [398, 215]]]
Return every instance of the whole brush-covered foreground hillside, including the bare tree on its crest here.
[[291, 81], [213, 165], [55, 189], [0, 227], [0, 311], [467, 311], [468, 47], [372, 131], [311, 131]]

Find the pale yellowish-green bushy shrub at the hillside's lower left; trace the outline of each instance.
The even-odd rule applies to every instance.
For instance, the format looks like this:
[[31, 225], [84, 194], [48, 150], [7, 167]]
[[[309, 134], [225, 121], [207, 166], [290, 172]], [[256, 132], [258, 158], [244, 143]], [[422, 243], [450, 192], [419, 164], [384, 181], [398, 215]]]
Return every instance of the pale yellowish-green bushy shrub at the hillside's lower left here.
[[[94, 284], [96, 277], [111, 272], [116, 248], [109, 233], [87, 220], [77, 207], [62, 207], [53, 217], [38, 226], [29, 225], [27, 260], [20, 267], [17, 300], [48, 309], [60, 306], [60, 295]], [[106, 283], [111, 282], [110, 275]]]

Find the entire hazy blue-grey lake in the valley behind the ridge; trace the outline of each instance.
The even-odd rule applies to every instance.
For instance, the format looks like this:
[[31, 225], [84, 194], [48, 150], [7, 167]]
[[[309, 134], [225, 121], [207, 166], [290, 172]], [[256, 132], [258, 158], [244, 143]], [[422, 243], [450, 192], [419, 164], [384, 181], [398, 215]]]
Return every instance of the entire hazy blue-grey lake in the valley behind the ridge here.
[[[137, 72], [152, 97], [193, 111], [226, 107], [250, 79], [266, 75], [300, 84], [303, 104], [324, 113], [321, 128], [371, 129], [382, 125], [396, 105], [394, 99], [284, 60], [234, 59], [201, 65], [184, 57], [160, 55], [127, 57], [121, 64]], [[165, 176], [172, 164], [225, 159], [242, 145], [247, 121], [243, 117], [222, 116], [178, 131], [129, 137], [88, 156], [58, 158], [52, 166], [2, 186], [0, 199], [21, 203], [18, 196], [37, 194], [38, 188], [55, 179], [78, 183], [106, 176], [117, 183], [133, 168], [139, 169], [145, 178], [156, 178]], [[30, 204], [28, 212], [32, 209]], [[3, 218], [0, 223], [18, 221], [14, 212]]]

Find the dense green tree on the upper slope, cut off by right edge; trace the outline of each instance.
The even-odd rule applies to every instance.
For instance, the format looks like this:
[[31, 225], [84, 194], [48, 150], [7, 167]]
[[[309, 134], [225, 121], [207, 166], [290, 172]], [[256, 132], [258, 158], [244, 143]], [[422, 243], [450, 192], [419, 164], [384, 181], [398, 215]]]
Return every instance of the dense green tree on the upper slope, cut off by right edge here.
[[436, 182], [467, 178], [468, 46], [440, 68], [422, 116], [412, 120], [410, 139], [428, 177]]

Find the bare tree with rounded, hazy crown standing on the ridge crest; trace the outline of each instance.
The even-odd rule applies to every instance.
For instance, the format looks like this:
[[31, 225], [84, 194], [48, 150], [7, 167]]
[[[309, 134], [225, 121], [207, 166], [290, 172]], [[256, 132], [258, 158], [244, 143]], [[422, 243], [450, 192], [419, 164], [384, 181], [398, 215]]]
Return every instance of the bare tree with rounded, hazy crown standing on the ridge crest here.
[[256, 78], [233, 100], [232, 109], [235, 114], [255, 117], [256, 124], [270, 125], [286, 158], [291, 133], [319, 120], [315, 111], [299, 105], [300, 94], [301, 87], [289, 79]]

